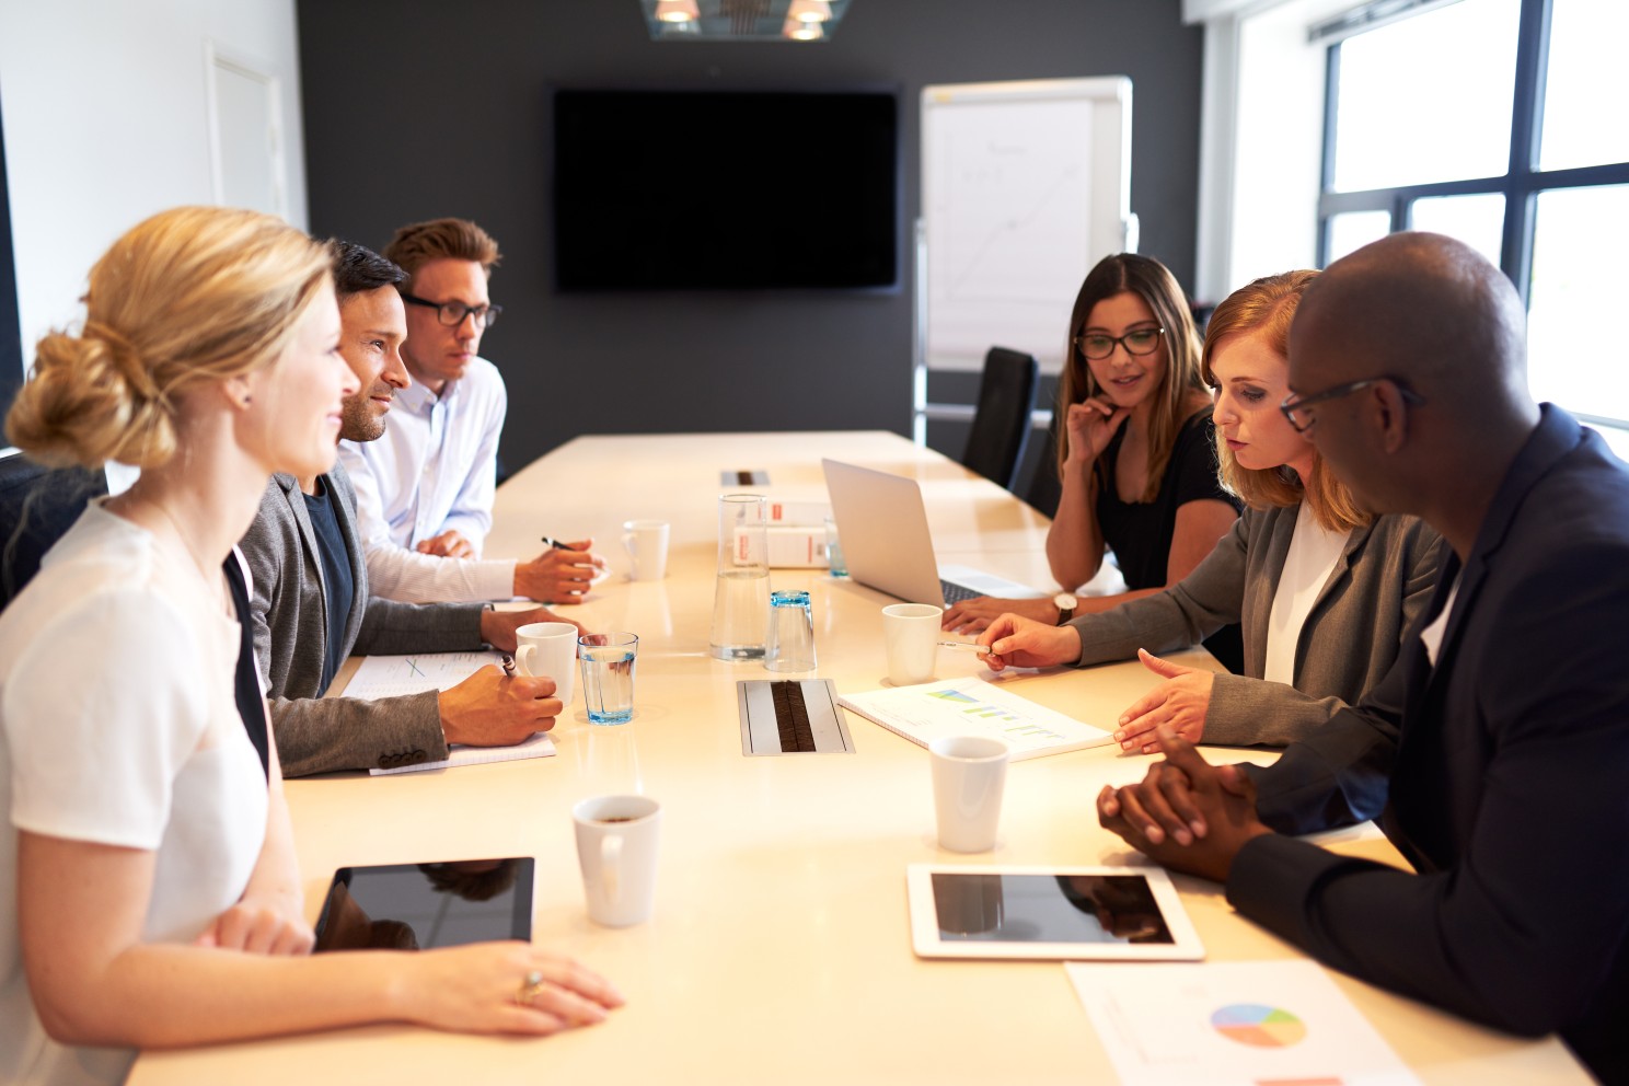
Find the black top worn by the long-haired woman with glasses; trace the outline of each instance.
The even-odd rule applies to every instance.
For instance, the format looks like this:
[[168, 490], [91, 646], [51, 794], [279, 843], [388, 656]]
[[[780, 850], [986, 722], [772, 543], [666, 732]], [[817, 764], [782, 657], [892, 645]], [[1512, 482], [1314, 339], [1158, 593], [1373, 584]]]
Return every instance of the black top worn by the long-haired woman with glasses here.
[[[1217, 479], [1215, 427], [1209, 407], [1189, 415], [1176, 431], [1153, 501], [1119, 498], [1114, 467], [1124, 438], [1126, 427], [1121, 427], [1098, 459], [1104, 472], [1098, 485], [1098, 526], [1103, 541], [1114, 552], [1126, 588], [1163, 588], [1171, 562], [1171, 541], [1176, 537], [1176, 510], [1207, 498], [1227, 501], [1235, 511], [1241, 503]], [[1238, 625], [1222, 627], [1204, 645], [1230, 671], [1245, 669], [1245, 640]]]

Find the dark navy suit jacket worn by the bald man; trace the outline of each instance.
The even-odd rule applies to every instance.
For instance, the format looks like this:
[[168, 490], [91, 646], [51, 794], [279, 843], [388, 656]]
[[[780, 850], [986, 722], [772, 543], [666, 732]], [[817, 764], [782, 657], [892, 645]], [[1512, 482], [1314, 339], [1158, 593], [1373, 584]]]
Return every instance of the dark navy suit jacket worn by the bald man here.
[[[1458, 581], [1437, 666], [1417, 630]], [[1228, 900], [1318, 959], [1629, 1081], [1629, 467], [1544, 405], [1391, 674], [1277, 765], [1267, 825], [1380, 817], [1417, 874], [1289, 837]]]

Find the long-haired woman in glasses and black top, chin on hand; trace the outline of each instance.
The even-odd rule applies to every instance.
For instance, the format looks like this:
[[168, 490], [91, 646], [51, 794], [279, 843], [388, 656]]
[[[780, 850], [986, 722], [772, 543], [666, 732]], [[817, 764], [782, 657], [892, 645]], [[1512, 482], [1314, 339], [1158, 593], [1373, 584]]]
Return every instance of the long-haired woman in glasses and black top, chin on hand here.
[[[1153, 257], [1121, 252], [1087, 274], [1069, 317], [1056, 415], [1062, 495], [1046, 557], [1064, 591], [966, 599], [945, 611], [945, 628], [982, 630], [1000, 614], [1062, 624], [1161, 591], [1188, 576], [1238, 516], [1238, 500], [1217, 480], [1199, 332], [1176, 277]], [[1131, 591], [1077, 599], [1106, 550]], [[1236, 630], [1207, 648], [1238, 669]]]

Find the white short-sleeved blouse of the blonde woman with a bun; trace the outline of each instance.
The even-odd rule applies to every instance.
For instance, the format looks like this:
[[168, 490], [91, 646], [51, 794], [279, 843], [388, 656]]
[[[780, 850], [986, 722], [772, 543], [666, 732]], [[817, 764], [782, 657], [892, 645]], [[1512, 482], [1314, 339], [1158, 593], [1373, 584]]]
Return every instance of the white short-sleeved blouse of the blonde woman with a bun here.
[[0, 615], [0, 1081], [119, 1083], [135, 1058], [41, 1027], [20, 830], [155, 853], [148, 943], [191, 943], [243, 896], [267, 786], [233, 697], [239, 637], [195, 570], [99, 503]]

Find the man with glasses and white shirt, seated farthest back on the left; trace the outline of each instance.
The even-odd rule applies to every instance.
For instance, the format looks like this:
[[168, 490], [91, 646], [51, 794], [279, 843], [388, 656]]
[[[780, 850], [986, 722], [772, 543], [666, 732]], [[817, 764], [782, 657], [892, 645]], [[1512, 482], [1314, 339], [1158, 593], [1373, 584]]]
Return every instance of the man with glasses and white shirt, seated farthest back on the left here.
[[464, 218], [396, 231], [384, 249], [409, 280], [402, 361], [412, 386], [396, 392], [378, 441], [340, 443], [357, 487], [357, 518], [375, 594], [406, 602], [528, 596], [578, 602], [604, 565], [590, 541], [529, 562], [481, 558], [492, 528], [498, 436], [508, 394], [481, 339], [503, 311], [487, 280], [497, 241]]

